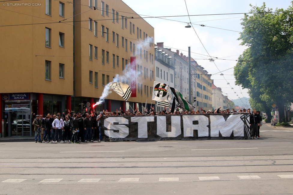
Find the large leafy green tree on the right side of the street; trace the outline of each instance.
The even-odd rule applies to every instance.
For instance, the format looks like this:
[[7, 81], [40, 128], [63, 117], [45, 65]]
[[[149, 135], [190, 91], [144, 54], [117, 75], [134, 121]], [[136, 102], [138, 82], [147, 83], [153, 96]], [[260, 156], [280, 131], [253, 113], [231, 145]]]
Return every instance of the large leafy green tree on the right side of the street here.
[[[291, 2], [293, 4], [293, 1]], [[251, 6], [242, 19], [238, 40], [248, 46], [234, 68], [236, 84], [249, 89], [250, 103], [269, 114], [270, 105], [284, 106], [293, 100], [293, 8], [287, 10]]]

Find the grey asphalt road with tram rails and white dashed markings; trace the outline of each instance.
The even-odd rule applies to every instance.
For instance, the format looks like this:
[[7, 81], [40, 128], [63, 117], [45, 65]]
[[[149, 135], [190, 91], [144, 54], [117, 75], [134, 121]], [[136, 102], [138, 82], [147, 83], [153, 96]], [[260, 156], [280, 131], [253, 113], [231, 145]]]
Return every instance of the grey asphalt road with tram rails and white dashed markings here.
[[0, 194], [293, 194], [293, 129], [256, 140], [0, 141]]

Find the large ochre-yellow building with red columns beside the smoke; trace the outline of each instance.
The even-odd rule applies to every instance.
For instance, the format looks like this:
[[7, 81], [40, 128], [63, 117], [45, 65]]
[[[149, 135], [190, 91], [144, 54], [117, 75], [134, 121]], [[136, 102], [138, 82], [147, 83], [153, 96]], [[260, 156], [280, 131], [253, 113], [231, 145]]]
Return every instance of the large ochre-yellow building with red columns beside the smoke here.
[[[0, 18], [0, 137], [32, 136], [36, 114], [84, 111], [116, 75], [130, 85], [134, 56], [129, 108], [151, 104], [154, 28], [122, 1], [8, 1]], [[122, 100], [113, 92], [95, 110], [125, 110]]]

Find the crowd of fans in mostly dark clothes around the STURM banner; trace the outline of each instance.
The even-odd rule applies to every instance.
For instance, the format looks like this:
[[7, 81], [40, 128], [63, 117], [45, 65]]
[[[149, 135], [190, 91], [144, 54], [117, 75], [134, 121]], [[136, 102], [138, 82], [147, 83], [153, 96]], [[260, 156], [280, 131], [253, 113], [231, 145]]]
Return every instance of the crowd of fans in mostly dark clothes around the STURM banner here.
[[[228, 114], [228, 113], [236, 113], [234, 109], [230, 111], [230, 109], [221, 110], [219, 107], [215, 111], [205, 111], [202, 108], [199, 110], [192, 111], [180, 111], [175, 110], [171, 112], [171, 109], [168, 111], [165, 107], [162, 111], [155, 111], [154, 107], [150, 107], [150, 110], [145, 109], [143, 112], [134, 110], [130, 112], [127, 110], [123, 112], [121, 107], [120, 110], [116, 110], [116, 112], [108, 112], [102, 111], [97, 114], [95, 111], [91, 111], [91, 114], [84, 112], [81, 114], [80, 112], [71, 113], [68, 110], [68, 114], [58, 113], [57, 115], [47, 114], [46, 117], [43, 118], [42, 115], [36, 115], [33, 126], [35, 130], [35, 142], [41, 143], [81, 143], [81, 142], [93, 142], [94, 140], [101, 141], [101, 126], [100, 119], [102, 116], [154, 116], [154, 115], [163, 115], [163, 114], [174, 114], [174, 115], [183, 115], [183, 114]], [[250, 109], [239, 110], [238, 112], [246, 112], [249, 113], [249, 124], [250, 124], [250, 138], [251, 139], [259, 139], [259, 128], [262, 126], [262, 118], [259, 111], [253, 110], [250, 113]], [[107, 141], [107, 140], [105, 140]]]

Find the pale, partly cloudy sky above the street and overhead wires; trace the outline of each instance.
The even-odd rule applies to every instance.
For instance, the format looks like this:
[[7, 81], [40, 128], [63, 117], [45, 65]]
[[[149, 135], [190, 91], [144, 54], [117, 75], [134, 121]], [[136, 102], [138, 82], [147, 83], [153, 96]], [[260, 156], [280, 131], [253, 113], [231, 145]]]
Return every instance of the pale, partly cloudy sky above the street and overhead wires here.
[[[122, 0], [137, 14], [146, 16], [182, 16], [188, 15], [184, 0]], [[250, 10], [249, 4], [261, 6], [264, 1], [260, 0], [186, 0], [187, 9], [189, 15], [199, 14], [221, 14], [221, 13], [247, 13]], [[290, 5], [290, 1], [285, 0], [267, 0], [265, 1], [266, 7], [284, 8], [287, 9]], [[180, 50], [183, 55], [188, 56], [188, 47], [191, 47], [191, 57], [197, 61], [197, 63], [207, 70], [208, 74], [212, 74], [211, 79], [214, 80], [214, 84], [217, 87], [222, 88], [224, 95], [228, 95], [229, 99], [237, 99], [238, 97], [249, 97], [247, 89], [242, 89], [241, 86], [235, 85], [235, 79], [233, 76], [233, 67], [237, 63], [239, 55], [242, 54], [245, 46], [240, 46], [239, 32], [242, 31], [240, 25], [241, 18], [244, 14], [233, 15], [216, 15], [216, 16], [190, 16], [190, 20], [194, 24], [196, 33], [193, 28], [185, 28], [187, 22], [189, 22], [188, 16], [183, 17], [168, 17], [167, 19], [177, 20], [171, 21], [159, 18], [145, 19], [155, 29], [155, 43], [164, 42], [164, 47], [171, 48], [176, 52], [176, 49]], [[141, 16], [144, 17], [144, 16]], [[184, 23], [185, 22], [185, 23]], [[204, 27], [200, 25], [205, 25]], [[216, 27], [210, 28], [206, 26]], [[232, 31], [217, 29], [224, 28]], [[207, 50], [205, 50], [205, 49]], [[183, 51], [185, 50], [185, 51]], [[226, 60], [215, 59], [215, 64], [210, 62], [207, 52], [212, 57], [222, 58]], [[203, 55], [199, 55], [203, 54]], [[220, 71], [224, 74], [221, 76]], [[229, 69], [232, 68], [232, 69]], [[229, 69], [229, 70], [226, 70]], [[224, 71], [226, 70], [226, 71]], [[217, 73], [217, 74], [216, 74]], [[227, 84], [227, 81], [230, 85]], [[236, 92], [236, 93], [234, 93]], [[237, 96], [238, 95], [238, 96]], [[244, 104], [246, 102], [243, 102]]]

